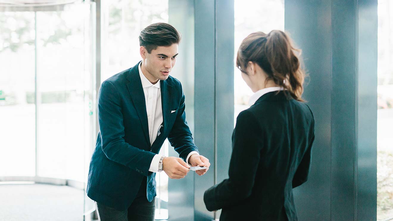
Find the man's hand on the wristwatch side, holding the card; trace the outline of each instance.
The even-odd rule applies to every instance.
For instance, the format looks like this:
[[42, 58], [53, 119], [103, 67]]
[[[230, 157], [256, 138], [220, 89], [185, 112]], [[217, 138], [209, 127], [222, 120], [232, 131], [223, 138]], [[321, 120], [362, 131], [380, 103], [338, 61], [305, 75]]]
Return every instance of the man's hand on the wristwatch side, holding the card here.
[[182, 179], [187, 175], [190, 166], [184, 162], [181, 158], [177, 157], [165, 157], [162, 160], [162, 170], [171, 179]]

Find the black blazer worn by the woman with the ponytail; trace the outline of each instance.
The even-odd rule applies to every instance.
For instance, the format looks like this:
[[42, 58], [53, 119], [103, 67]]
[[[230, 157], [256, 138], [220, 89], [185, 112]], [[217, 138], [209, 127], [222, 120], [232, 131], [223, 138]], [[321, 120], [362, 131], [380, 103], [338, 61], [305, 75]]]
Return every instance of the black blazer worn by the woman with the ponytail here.
[[270, 92], [237, 116], [229, 179], [207, 190], [220, 221], [298, 220], [292, 188], [306, 182], [314, 141], [310, 108]]

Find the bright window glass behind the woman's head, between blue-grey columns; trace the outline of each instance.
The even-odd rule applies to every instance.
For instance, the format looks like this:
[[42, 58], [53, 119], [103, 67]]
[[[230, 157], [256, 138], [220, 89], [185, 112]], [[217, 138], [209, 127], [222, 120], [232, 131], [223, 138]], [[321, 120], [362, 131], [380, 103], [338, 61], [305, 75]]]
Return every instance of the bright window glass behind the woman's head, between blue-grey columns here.
[[[284, 31], [284, 0], [235, 0], [235, 63], [237, 50], [243, 39], [257, 31], [269, 33], [272, 30]], [[235, 116], [250, 107], [248, 99], [253, 94], [234, 65]]]

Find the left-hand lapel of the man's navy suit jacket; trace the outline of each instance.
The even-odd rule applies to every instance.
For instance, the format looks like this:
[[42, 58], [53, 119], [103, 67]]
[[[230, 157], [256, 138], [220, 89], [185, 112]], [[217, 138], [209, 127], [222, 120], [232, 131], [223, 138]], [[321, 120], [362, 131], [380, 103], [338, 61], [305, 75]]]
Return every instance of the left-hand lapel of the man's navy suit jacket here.
[[142, 82], [139, 76], [138, 65], [139, 63], [131, 68], [128, 73], [127, 79], [130, 81], [130, 83], [127, 84], [127, 88], [132, 98], [132, 102], [134, 103], [136, 112], [138, 112], [138, 116], [143, 128], [143, 134], [145, 134], [146, 141], [150, 145], [145, 94], [143, 92]]

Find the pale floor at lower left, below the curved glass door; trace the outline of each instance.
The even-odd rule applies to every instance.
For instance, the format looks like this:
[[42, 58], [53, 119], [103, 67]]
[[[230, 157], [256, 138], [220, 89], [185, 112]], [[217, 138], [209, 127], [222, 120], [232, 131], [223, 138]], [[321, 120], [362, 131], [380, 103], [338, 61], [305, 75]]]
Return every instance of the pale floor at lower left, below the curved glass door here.
[[46, 184], [1, 184], [0, 221], [83, 221], [83, 190]]

